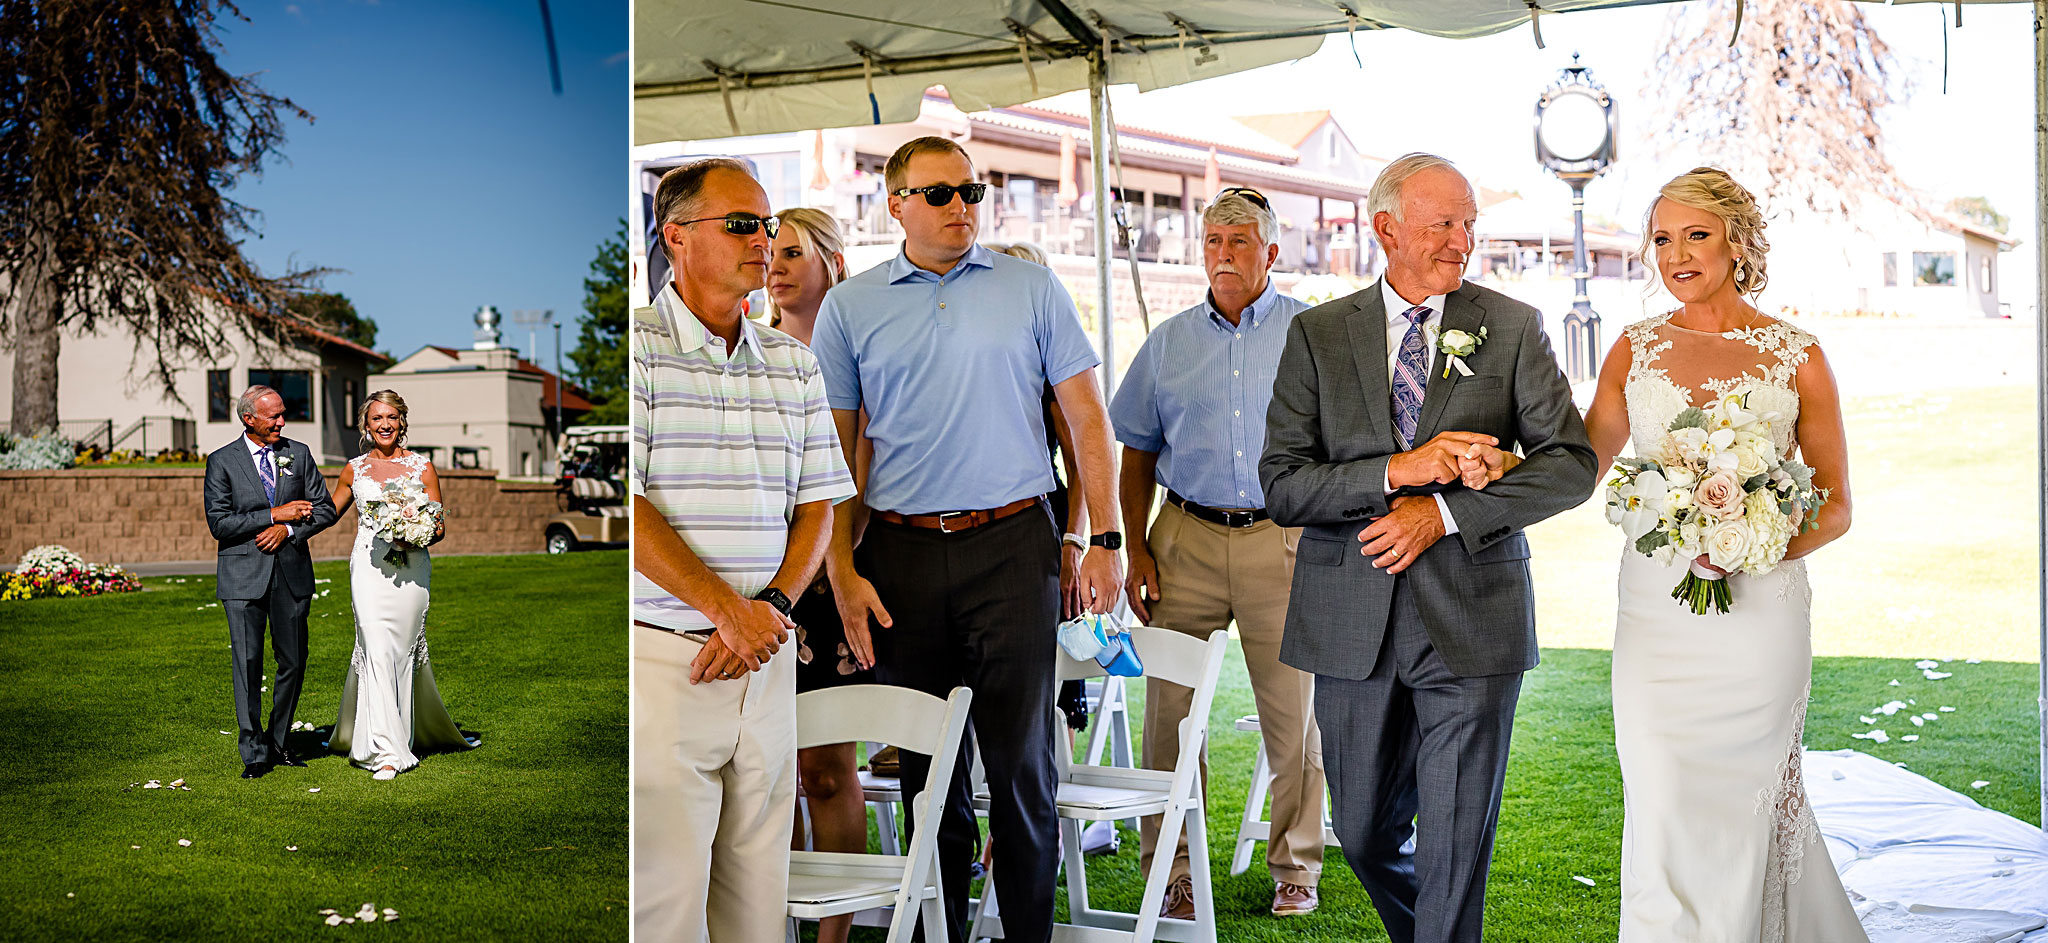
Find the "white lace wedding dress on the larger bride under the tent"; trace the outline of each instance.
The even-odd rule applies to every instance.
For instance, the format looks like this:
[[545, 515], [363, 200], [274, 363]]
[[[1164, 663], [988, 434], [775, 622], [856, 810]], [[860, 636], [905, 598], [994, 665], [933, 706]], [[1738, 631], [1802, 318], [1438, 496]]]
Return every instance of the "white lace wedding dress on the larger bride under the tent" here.
[[[1812, 334], [1759, 320], [1726, 334], [1632, 324], [1628, 430], [1655, 457], [1671, 418], [1718, 394], [1778, 412], [1798, 443], [1794, 375]], [[1690, 560], [1624, 549], [1614, 627], [1614, 746], [1622, 765], [1624, 943], [1862, 943], [1800, 785], [1812, 674], [1806, 564], [1731, 576], [1726, 615], [1671, 599]]]

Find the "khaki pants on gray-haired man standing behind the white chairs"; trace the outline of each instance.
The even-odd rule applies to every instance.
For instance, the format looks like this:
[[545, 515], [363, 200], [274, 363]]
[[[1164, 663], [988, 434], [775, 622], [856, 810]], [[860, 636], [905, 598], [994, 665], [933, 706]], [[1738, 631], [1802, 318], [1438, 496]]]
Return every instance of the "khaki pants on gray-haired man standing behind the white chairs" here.
[[[1260, 521], [1223, 527], [1188, 517], [1174, 504], [1153, 521], [1151, 547], [1159, 564], [1159, 601], [1151, 625], [1208, 636], [1237, 621], [1260, 709], [1266, 761], [1274, 771], [1272, 840], [1266, 867], [1276, 881], [1315, 888], [1323, 873], [1323, 738], [1315, 728], [1315, 674], [1280, 664], [1288, 588], [1294, 580], [1298, 529]], [[1194, 691], [1165, 681], [1145, 681], [1145, 769], [1174, 769], [1180, 761], [1180, 720]], [[1206, 795], [1208, 761], [1202, 761]], [[1223, 820], [1208, 812], [1210, 830]], [[1141, 867], [1151, 867], [1159, 816], [1141, 828]], [[1174, 877], [1188, 873], [1188, 838], [1174, 851]]]

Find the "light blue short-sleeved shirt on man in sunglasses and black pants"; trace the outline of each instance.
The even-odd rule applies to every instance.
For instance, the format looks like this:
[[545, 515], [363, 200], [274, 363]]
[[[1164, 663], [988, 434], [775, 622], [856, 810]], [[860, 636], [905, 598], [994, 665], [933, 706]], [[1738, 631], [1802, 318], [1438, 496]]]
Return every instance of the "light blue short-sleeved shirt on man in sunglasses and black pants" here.
[[946, 275], [897, 252], [842, 281], [811, 351], [831, 408], [868, 410], [866, 504], [899, 515], [1051, 492], [1044, 392], [1102, 363], [1051, 269], [981, 246]]

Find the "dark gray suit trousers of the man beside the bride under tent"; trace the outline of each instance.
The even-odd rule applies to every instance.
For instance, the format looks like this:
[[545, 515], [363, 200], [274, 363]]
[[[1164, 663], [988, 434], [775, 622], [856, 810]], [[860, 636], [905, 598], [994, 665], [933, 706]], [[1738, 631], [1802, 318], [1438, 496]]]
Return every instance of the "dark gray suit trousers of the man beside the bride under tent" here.
[[1520, 672], [1452, 674], [1407, 580], [1372, 674], [1317, 674], [1337, 840], [1393, 943], [1479, 943], [1520, 693]]

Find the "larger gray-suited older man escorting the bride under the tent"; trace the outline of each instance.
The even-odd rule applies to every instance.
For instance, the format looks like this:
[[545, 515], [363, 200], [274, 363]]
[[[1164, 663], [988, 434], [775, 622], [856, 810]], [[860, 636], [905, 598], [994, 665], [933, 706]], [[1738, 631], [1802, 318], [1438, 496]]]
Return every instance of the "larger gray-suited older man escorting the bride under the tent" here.
[[1266, 414], [1266, 508], [1303, 527], [1280, 660], [1315, 672], [1337, 838], [1389, 937], [1479, 941], [1536, 666], [1522, 529], [1593, 492], [1593, 449], [1542, 316], [1464, 283], [1470, 182], [1409, 154], [1366, 211], [1386, 277], [1294, 318]]

